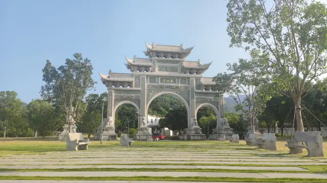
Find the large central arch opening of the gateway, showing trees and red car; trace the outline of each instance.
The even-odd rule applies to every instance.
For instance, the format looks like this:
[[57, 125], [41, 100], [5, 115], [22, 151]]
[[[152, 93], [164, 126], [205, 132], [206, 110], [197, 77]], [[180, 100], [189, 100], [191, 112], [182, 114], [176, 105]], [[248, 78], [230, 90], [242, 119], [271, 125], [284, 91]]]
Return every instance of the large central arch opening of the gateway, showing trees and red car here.
[[187, 102], [171, 92], [153, 96], [148, 102], [147, 114], [153, 138], [165, 136], [165, 139], [179, 140], [182, 131], [189, 126]]

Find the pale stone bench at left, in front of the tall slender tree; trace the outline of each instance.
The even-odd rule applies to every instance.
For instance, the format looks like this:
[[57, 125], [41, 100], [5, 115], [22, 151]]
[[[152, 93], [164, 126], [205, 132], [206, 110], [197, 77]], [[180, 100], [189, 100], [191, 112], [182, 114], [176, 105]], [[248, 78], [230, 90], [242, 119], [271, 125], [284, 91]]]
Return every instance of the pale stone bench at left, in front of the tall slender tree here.
[[66, 141], [66, 150], [78, 151], [88, 149], [87, 146], [90, 143], [90, 140], [84, 140], [82, 133], [68, 133], [67, 137], [68, 139]]

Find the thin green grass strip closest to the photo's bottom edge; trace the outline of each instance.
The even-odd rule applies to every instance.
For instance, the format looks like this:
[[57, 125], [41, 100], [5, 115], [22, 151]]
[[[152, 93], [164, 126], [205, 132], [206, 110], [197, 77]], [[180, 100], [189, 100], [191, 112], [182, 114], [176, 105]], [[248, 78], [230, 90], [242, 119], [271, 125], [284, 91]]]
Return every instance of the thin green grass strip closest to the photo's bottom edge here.
[[143, 180], [143, 181], [221, 181], [221, 182], [327, 182], [321, 178], [235, 178], [235, 177], [48, 177], [48, 176], [0, 176], [0, 180]]

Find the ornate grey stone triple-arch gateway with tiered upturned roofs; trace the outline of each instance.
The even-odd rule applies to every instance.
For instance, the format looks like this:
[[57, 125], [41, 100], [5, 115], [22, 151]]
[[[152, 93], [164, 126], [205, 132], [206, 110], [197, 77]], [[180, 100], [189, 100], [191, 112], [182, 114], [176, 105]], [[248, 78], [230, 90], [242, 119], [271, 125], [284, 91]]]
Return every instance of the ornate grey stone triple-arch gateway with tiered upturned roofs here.
[[[151, 135], [147, 126], [147, 112], [153, 99], [163, 94], [179, 98], [188, 111], [188, 128], [181, 135], [182, 140], [205, 140], [197, 122], [197, 111], [207, 106], [217, 115], [217, 126], [213, 129], [211, 140], [225, 135], [229, 139], [232, 129], [224, 118], [223, 98], [216, 97], [213, 91], [215, 82], [211, 77], [202, 77], [212, 63], [201, 64], [198, 61], [186, 61], [193, 47], [183, 45], [158, 45], [152, 43], [143, 51], [148, 58], [133, 59], [126, 57], [126, 67], [131, 73], [101, 74], [101, 81], [108, 89], [107, 118], [103, 127], [99, 126], [94, 139], [99, 140], [103, 129], [103, 140], [116, 140], [114, 132], [114, 115], [119, 106], [132, 104], [138, 113], [138, 129], [136, 139], [147, 140]], [[140, 132], [141, 131], [141, 132]]]

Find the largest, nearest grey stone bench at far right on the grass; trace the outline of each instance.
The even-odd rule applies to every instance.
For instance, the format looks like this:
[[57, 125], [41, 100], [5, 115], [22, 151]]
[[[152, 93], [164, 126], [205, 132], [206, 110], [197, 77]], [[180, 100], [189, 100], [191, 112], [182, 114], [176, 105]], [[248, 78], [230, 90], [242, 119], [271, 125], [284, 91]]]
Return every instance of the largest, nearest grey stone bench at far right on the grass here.
[[[306, 145], [302, 145], [304, 142]], [[307, 149], [308, 157], [323, 156], [321, 132], [296, 132], [294, 141], [285, 144], [290, 149], [290, 154], [302, 153], [302, 149]]]

